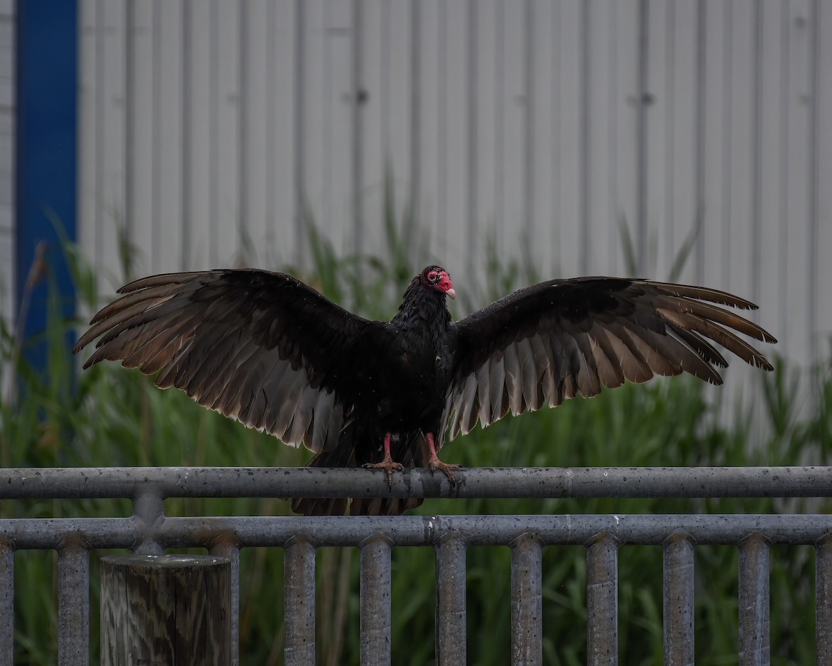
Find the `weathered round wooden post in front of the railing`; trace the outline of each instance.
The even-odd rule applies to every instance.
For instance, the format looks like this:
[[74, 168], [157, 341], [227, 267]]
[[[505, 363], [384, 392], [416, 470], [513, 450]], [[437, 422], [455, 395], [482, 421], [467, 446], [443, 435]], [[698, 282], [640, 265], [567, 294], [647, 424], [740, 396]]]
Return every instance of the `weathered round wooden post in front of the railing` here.
[[230, 570], [211, 555], [103, 557], [102, 666], [228, 666]]

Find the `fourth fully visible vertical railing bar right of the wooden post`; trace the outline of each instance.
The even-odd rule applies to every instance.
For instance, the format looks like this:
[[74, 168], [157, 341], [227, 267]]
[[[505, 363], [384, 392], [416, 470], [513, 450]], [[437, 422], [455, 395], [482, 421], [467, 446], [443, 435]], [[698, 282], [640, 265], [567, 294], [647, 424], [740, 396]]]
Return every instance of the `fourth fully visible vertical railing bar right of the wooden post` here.
[[514, 666], [543, 663], [542, 547], [522, 534], [512, 547], [512, 661]]

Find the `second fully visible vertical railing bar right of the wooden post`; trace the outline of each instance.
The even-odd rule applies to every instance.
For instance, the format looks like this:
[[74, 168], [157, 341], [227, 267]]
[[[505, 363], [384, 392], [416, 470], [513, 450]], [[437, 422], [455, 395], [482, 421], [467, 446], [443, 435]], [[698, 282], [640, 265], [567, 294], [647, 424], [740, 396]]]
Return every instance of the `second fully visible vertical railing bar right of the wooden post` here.
[[384, 536], [361, 544], [360, 636], [362, 666], [390, 664], [390, 549]]

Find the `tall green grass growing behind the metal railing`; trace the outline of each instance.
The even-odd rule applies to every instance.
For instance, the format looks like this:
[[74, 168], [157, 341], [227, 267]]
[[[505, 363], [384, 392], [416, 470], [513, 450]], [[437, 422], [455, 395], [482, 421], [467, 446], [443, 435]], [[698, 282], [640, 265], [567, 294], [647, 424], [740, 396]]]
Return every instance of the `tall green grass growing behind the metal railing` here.
[[[390, 232], [391, 243], [404, 236]], [[364, 257], [335, 256], [312, 235], [314, 270], [306, 276], [324, 293], [367, 316], [389, 317], [404, 282], [416, 266], [395, 247], [394, 265]], [[78, 291], [88, 306], [99, 305], [89, 269], [72, 258]], [[488, 267], [488, 293], [513, 286], [516, 266]], [[525, 276], [524, 276], [525, 277]], [[359, 281], [360, 278], [360, 281]], [[106, 300], [111, 295], [102, 295]], [[57, 304], [52, 303], [52, 311]], [[0, 404], [0, 454], [6, 467], [54, 465], [303, 465], [305, 451], [246, 430], [207, 411], [177, 391], [161, 391], [136, 371], [97, 365], [72, 379], [76, 360], [63, 335], [79, 322], [52, 317], [46, 379], [21, 366], [25, 397]], [[11, 364], [10, 331], [0, 331], [0, 358]], [[762, 374], [760, 373], [760, 376]], [[464, 466], [648, 466], [826, 465], [832, 445], [832, 372], [818, 370], [818, 402], [799, 410], [792, 374], [778, 363], [765, 377], [760, 430], [750, 446], [750, 415], [730, 420], [718, 400], [707, 400], [701, 382], [690, 378], [606, 391], [592, 400], [571, 400], [557, 410], [507, 418], [488, 430], [455, 440], [443, 457]], [[730, 386], [730, 374], [728, 377]], [[728, 388], [727, 390], [730, 390]], [[827, 511], [826, 501], [775, 499], [428, 499], [425, 514], [562, 514]], [[277, 499], [176, 499], [169, 514], [285, 514]], [[2, 517], [126, 515], [126, 500], [4, 501]], [[92, 562], [92, 659], [97, 659], [97, 560]], [[580, 547], [543, 551], [543, 625], [547, 664], [585, 664], [586, 553]], [[814, 654], [814, 550], [772, 548], [772, 664], [808, 664]], [[509, 641], [508, 548], [468, 550], [468, 661], [504, 664]], [[56, 660], [56, 558], [19, 552], [15, 557], [16, 661]], [[696, 549], [696, 663], [736, 660], [736, 564], [731, 547]], [[357, 664], [359, 654], [358, 552], [320, 549], [318, 578], [319, 664]], [[661, 664], [661, 549], [625, 547], [619, 555], [619, 613], [622, 664]], [[400, 548], [393, 554], [394, 664], [433, 660], [433, 550]], [[246, 549], [240, 561], [240, 651], [243, 664], [282, 663], [282, 551]], [[95, 661], [93, 662], [95, 663]]]

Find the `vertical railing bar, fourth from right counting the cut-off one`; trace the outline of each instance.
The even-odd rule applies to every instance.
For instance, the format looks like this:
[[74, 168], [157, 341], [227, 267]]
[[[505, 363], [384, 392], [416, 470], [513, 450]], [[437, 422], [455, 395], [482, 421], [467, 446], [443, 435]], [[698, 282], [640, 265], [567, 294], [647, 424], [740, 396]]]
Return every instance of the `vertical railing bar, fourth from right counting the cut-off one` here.
[[587, 544], [587, 664], [618, 664], [618, 542], [610, 534]]

